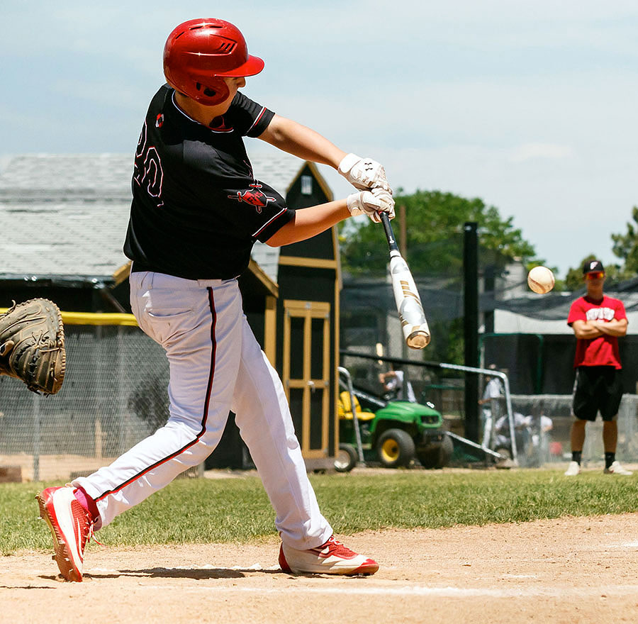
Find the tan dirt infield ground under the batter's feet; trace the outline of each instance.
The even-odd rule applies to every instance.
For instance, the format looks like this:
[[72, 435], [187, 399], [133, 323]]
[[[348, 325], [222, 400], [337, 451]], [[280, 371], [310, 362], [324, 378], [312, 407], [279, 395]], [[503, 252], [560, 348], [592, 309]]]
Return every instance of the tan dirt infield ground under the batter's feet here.
[[0, 559], [0, 622], [622, 623], [638, 620], [638, 514], [344, 539], [374, 576], [290, 576], [275, 540], [91, 545], [67, 583], [45, 552]]

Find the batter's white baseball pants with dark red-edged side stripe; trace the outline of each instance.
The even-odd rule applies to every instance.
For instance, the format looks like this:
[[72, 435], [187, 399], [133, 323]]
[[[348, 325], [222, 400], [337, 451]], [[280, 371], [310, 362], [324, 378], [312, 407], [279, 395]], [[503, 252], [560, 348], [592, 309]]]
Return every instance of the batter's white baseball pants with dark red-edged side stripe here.
[[232, 410], [281, 539], [300, 550], [328, 540], [284, 386], [247, 323], [237, 280], [132, 273], [130, 301], [142, 330], [166, 350], [170, 418], [110, 466], [73, 481], [96, 501], [96, 528], [203, 462]]

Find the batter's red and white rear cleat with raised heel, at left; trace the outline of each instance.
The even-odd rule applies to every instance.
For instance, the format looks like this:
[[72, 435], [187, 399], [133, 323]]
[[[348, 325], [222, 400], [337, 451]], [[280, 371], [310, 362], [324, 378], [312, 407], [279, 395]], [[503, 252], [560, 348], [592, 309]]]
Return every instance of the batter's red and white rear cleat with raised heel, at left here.
[[67, 581], [82, 581], [84, 547], [91, 537], [93, 524], [72, 487], [50, 487], [35, 498], [40, 503], [40, 516], [53, 536], [53, 559]]

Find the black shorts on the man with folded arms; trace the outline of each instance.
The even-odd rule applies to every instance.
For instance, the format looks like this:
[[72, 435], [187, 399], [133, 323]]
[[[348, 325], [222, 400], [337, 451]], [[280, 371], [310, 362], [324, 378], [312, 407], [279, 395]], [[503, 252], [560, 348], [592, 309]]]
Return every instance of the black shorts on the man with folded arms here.
[[573, 413], [580, 420], [614, 420], [622, 399], [622, 374], [612, 366], [579, 366], [573, 387]]

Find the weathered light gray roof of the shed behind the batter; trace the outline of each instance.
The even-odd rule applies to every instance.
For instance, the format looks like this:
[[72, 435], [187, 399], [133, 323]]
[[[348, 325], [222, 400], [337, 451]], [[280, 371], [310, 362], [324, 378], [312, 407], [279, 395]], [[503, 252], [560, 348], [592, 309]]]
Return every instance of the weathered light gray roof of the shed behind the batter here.
[[[303, 166], [279, 151], [251, 155], [251, 162], [255, 177], [284, 196]], [[19, 155], [3, 165], [0, 274], [108, 278], [128, 261], [122, 245], [131, 198], [130, 155]], [[252, 257], [276, 281], [279, 250], [257, 244]]]

